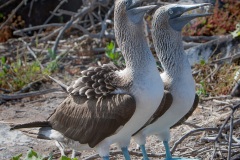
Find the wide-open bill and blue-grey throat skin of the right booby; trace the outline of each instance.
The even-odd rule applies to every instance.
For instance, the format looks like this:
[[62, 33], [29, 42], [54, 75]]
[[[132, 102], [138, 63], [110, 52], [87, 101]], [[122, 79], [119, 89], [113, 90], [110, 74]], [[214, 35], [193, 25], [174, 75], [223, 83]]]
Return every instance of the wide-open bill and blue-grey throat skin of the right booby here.
[[[208, 13], [208, 12], [207, 13], [190, 13], [188, 15], [183, 15], [188, 11], [191, 11], [197, 8], [202, 8], [204, 6], [208, 6], [208, 12], [211, 12], [211, 13]], [[171, 12], [171, 8], [169, 12]], [[178, 5], [173, 7], [172, 13], [173, 13], [172, 15], [171, 13], [169, 13], [170, 15], [169, 24], [173, 29], [177, 31], [181, 31], [182, 28], [194, 18], [205, 17], [213, 14], [211, 3], [202, 3], [202, 4], [194, 4], [194, 5]]]

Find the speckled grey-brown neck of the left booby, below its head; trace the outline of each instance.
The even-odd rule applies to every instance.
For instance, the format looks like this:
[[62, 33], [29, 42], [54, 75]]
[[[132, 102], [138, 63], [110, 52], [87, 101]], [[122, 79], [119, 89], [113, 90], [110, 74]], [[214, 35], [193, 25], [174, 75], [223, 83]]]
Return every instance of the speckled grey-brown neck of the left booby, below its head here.
[[122, 51], [126, 67], [132, 70], [134, 75], [157, 72], [155, 59], [149, 49], [142, 24], [115, 24], [116, 41]]

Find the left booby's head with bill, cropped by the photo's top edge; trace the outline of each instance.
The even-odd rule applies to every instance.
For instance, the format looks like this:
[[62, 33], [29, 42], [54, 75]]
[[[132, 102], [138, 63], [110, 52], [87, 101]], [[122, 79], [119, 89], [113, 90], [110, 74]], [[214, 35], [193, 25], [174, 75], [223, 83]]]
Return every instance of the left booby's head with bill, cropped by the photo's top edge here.
[[138, 24], [143, 21], [146, 12], [154, 9], [156, 5], [141, 6], [143, 0], [116, 0], [114, 16], [119, 19], [126, 18], [127, 21]]

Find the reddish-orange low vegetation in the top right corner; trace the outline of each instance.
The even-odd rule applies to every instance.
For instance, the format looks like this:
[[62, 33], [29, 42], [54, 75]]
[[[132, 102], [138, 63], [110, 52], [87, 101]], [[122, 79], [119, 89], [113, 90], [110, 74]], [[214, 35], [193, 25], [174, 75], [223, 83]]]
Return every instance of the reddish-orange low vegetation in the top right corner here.
[[236, 24], [240, 21], [240, 2], [236, 0], [225, 0], [223, 6], [216, 1], [213, 15], [198, 18], [193, 24], [183, 29], [184, 35], [222, 35], [235, 30]]

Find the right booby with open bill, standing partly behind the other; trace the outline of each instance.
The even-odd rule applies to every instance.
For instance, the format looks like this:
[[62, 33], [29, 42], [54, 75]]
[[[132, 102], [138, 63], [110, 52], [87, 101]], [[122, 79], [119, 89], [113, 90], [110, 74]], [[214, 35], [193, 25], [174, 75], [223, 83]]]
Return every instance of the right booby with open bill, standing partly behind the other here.
[[144, 126], [133, 138], [140, 145], [145, 160], [148, 159], [145, 151], [145, 137], [155, 134], [166, 149], [166, 159], [172, 158], [168, 141], [170, 128], [188, 118], [198, 104], [198, 96], [195, 95], [195, 82], [191, 72], [191, 66], [185, 55], [181, 30], [190, 20], [196, 17], [210, 15], [197, 13], [183, 15], [185, 12], [210, 4], [179, 5], [171, 4], [160, 7], [154, 13], [152, 20], [152, 37], [157, 56], [164, 68], [161, 78], [164, 89], [172, 95], [172, 104], [169, 108], [158, 113], [149, 125]]

